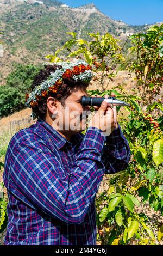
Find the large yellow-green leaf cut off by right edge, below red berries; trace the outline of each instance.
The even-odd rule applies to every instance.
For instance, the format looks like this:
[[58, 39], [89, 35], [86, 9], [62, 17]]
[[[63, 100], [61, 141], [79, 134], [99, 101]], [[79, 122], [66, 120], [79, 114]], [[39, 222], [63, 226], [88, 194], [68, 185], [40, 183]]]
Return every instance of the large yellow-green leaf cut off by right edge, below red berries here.
[[159, 166], [163, 161], [163, 139], [154, 142], [152, 156], [156, 166]]

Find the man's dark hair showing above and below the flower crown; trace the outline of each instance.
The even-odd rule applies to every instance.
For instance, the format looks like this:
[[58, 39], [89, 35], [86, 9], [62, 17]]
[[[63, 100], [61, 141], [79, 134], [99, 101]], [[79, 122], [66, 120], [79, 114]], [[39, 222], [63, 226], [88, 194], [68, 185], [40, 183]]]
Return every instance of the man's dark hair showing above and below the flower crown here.
[[[37, 74], [33, 80], [32, 83], [32, 90], [36, 87], [39, 86], [43, 81], [47, 80], [49, 75], [51, 73], [54, 73], [57, 68], [61, 69], [62, 66], [57, 66], [57, 65], [48, 65], [46, 68], [43, 70], [41, 69], [39, 74]], [[58, 101], [61, 102], [61, 104], [64, 106], [65, 100], [67, 99], [68, 96], [71, 95], [74, 87], [77, 87], [82, 90], [86, 90], [86, 87], [89, 85], [89, 83], [83, 83], [83, 82], [75, 82], [73, 78], [65, 78], [62, 81], [62, 84], [59, 86], [57, 93], [52, 93], [48, 92], [46, 97], [41, 96], [41, 99], [38, 101], [38, 105], [32, 107], [33, 112], [37, 115], [37, 117], [40, 117], [43, 119], [46, 115], [47, 112], [47, 99], [49, 96], [55, 97]]]

